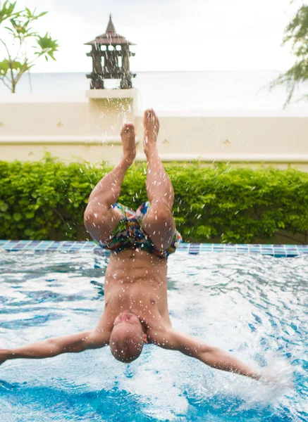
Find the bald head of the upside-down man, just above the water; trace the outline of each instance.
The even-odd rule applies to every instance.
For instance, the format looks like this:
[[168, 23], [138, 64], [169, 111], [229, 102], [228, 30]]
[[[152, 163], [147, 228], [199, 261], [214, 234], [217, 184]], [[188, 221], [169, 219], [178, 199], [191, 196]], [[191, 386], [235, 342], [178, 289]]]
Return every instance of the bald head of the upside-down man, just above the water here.
[[111, 353], [120, 362], [133, 362], [140, 356], [146, 339], [139, 318], [133, 312], [123, 312], [116, 317], [111, 331]]

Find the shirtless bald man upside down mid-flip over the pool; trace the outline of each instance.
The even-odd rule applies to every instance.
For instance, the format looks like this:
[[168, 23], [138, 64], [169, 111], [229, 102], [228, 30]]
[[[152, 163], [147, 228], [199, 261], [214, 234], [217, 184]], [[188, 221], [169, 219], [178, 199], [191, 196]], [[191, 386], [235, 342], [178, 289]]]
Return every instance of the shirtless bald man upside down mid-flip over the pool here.
[[121, 131], [123, 157], [93, 189], [85, 210], [85, 227], [103, 248], [111, 250], [105, 278], [105, 309], [92, 331], [44, 340], [13, 350], [0, 350], [7, 359], [41, 359], [109, 345], [121, 362], [133, 362], [144, 343], [178, 350], [209, 366], [259, 379], [260, 375], [231, 354], [172, 328], [167, 302], [167, 257], [180, 240], [172, 215], [173, 186], [159, 158], [159, 120], [144, 113], [144, 153], [147, 157], [147, 196], [137, 210], [116, 203], [121, 184], [135, 159], [135, 129]]

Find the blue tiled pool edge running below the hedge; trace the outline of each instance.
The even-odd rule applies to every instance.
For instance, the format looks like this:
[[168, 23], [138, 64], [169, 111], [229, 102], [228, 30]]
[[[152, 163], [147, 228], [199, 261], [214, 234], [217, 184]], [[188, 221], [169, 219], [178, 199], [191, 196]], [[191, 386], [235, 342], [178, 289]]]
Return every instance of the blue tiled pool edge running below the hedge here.
[[[72, 252], [82, 250], [83, 252], [99, 251], [106, 255], [108, 251], [102, 250], [99, 246], [90, 241], [1, 241], [0, 250], [16, 252], [18, 250], [32, 251], [59, 251]], [[209, 252], [235, 252], [238, 254], [271, 255], [273, 257], [295, 257], [308, 254], [308, 245], [250, 245], [250, 244], [226, 244], [226, 243], [180, 243], [178, 250], [190, 255], [202, 255]]]

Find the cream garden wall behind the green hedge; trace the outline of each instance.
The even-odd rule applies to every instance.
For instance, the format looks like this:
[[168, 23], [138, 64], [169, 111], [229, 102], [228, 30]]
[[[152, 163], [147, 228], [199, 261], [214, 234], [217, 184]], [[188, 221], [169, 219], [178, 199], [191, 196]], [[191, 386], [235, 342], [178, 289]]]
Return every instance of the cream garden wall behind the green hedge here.
[[[45, 152], [70, 162], [116, 162], [119, 132], [135, 123], [142, 141], [142, 115], [135, 90], [88, 91], [69, 97], [11, 94], [0, 98], [0, 159], [39, 160]], [[112, 98], [113, 97], [113, 98]], [[117, 98], [121, 97], [121, 98]], [[308, 115], [220, 113], [160, 115], [163, 160], [264, 162], [308, 171]], [[138, 145], [141, 160], [142, 142]]]

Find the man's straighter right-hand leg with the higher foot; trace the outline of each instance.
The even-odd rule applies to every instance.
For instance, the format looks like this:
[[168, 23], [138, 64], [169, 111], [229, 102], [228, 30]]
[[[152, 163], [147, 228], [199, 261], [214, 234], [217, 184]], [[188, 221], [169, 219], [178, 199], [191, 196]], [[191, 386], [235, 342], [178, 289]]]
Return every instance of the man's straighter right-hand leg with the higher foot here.
[[156, 138], [159, 119], [153, 110], [144, 113], [144, 153], [147, 156], [147, 196], [151, 206], [142, 219], [142, 226], [159, 250], [166, 250], [175, 234], [172, 216], [173, 186], [159, 158]]

